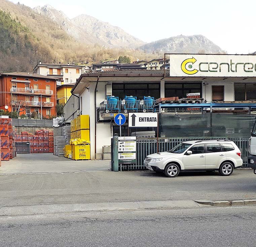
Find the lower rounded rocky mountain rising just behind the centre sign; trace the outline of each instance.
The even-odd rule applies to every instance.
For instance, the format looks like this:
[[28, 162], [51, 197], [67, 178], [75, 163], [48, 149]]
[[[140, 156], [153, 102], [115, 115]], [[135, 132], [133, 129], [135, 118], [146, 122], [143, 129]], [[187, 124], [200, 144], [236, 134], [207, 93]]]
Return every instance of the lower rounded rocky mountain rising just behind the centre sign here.
[[223, 53], [224, 51], [203, 35], [179, 35], [140, 46], [146, 53]]

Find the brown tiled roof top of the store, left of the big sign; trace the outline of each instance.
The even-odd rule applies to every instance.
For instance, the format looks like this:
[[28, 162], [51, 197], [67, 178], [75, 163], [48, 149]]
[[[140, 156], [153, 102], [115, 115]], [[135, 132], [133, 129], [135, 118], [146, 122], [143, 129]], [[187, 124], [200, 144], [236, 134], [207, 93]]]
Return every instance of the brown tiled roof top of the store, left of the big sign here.
[[[170, 73], [166, 70], [166, 74]], [[101, 72], [86, 72], [81, 76], [163, 76], [164, 70], [107, 70]]]

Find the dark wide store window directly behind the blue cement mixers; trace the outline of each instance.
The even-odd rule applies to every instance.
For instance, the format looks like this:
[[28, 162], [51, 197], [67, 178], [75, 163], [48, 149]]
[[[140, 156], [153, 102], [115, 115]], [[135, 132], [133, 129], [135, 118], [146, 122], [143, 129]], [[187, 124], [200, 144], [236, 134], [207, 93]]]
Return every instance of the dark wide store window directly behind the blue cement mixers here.
[[160, 83], [114, 83], [112, 95], [119, 97], [119, 100], [131, 95], [136, 96], [138, 100], [144, 96], [157, 99], [160, 97]]

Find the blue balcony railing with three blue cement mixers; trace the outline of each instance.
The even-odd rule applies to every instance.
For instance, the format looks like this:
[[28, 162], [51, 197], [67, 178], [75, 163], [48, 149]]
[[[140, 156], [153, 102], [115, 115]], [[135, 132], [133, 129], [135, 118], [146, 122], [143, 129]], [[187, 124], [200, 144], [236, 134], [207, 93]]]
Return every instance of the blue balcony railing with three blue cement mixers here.
[[134, 101], [108, 101], [101, 102], [101, 113], [127, 113], [127, 112], [153, 112], [156, 100], [134, 100]]

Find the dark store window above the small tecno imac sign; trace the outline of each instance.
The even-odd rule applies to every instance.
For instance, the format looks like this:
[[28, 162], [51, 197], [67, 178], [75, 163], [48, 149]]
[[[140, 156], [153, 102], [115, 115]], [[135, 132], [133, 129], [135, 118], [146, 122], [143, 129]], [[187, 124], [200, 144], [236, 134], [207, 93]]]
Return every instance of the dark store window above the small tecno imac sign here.
[[202, 83], [165, 83], [165, 97], [186, 98], [187, 93], [200, 93], [202, 97]]

